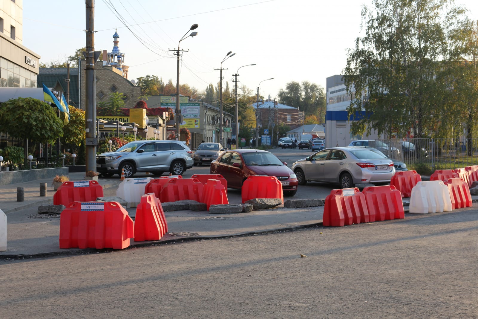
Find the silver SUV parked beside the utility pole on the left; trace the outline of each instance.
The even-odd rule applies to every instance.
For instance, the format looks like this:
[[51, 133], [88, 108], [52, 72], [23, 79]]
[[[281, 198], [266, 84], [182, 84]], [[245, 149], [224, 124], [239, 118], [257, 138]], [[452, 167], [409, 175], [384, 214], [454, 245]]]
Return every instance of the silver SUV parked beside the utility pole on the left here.
[[96, 170], [106, 177], [121, 176], [123, 169], [125, 177], [132, 177], [136, 172], [181, 175], [191, 167], [193, 152], [182, 141], [135, 141], [96, 157]]

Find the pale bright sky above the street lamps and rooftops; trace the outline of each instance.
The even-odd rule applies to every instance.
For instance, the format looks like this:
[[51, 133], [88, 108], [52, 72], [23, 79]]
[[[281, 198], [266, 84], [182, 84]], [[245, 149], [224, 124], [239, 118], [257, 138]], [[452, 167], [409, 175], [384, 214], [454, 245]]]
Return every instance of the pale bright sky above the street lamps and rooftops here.
[[[109, 10], [113, 3], [141, 42]], [[272, 99], [290, 81], [304, 80], [326, 88], [326, 77], [341, 74], [360, 32], [363, 0], [96, 0], [95, 49], [111, 51], [118, 28], [120, 51], [130, 66], [129, 79], [146, 75], [176, 84], [176, 56], [168, 49], [197, 23], [198, 35], [180, 44], [184, 63], [180, 83], [204, 90], [216, 85], [222, 59], [223, 81], [232, 88], [232, 74], [240, 66], [242, 85]], [[478, 19], [478, 1], [456, 0]], [[124, 7], [123, 7], [124, 6]], [[126, 9], [125, 9], [126, 8]], [[41, 55], [40, 62], [65, 61], [86, 45], [84, 1], [23, 1], [23, 45]], [[148, 23], [145, 23], [148, 22]], [[189, 33], [188, 33], [189, 34]], [[152, 51], [150, 51], [150, 48]], [[225, 82], [223, 82], [223, 87]], [[240, 88], [240, 84], [239, 84]]]

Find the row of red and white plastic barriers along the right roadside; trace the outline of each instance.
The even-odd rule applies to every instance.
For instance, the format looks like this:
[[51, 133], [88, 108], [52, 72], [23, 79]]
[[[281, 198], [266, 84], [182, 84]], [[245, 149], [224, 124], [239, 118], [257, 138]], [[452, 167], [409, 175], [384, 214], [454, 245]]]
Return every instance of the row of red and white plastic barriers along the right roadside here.
[[392, 177], [390, 186], [365, 187], [362, 192], [357, 187], [334, 189], [326, 198], [323, 225], [403, 219], [403, 197], [410, 197], [409, 212], [415, 214], [472, 207], [469, 186], [478, 181], [478, 165], [437, 170], [430, 179], [403, 171]]

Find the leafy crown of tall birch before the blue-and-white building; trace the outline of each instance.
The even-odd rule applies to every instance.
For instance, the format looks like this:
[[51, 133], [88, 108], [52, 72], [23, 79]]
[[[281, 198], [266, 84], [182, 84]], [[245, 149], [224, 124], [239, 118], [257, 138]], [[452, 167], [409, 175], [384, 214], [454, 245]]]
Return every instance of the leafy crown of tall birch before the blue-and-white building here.
[[448, 67], [440, 59], [463, 13], [452, 0], [373, 0], [363, 7], [365, 35], [350, 50], [344, 75], [355, 92], [352, 134], [374, 129], [402, 137], [413, 128], [416, 138], [433, 135], [451, 94], [439, 77]]

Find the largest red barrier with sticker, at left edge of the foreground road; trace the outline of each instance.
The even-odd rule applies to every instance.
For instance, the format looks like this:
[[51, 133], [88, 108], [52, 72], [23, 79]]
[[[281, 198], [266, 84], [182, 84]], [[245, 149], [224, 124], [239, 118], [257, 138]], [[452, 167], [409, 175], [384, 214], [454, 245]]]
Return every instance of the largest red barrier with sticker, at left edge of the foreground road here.
[[60, 215], [60, 248], [123, 249], [133, 220], [118, 202], [73, 202]]

